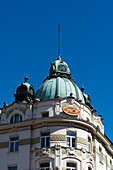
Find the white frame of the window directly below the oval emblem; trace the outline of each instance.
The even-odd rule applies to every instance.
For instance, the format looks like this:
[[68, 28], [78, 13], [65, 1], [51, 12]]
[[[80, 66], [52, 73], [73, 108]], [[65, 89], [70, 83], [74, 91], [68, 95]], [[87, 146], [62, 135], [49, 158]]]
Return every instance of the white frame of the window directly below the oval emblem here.
[[[73, 136], [72, 135], [68, 135], [68, 133], [72, 133], [74, 134]], [[70, 144], [68, 145], [68, 140], [67, 138], [69, 138], [70, 140]], [[75, 139], [75, 146], [72, 146], [73, 145], [73, 139]], [[76, 132], [72, 132], [72, 131], [67, 131], [67, 134], [66, 134], [66, 145], [68, 147], [76, 147]]]

